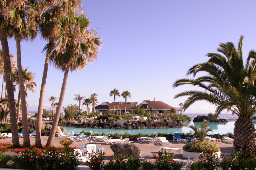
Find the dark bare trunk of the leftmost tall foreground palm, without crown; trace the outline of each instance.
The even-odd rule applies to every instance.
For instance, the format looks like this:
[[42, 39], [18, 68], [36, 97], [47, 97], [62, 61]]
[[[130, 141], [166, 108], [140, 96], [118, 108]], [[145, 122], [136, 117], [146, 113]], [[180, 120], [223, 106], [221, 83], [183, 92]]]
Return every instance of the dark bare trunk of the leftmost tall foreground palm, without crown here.
[[14, 93], [13, 93], [13, 84], [12, 84], [12, 76], [11, 76], [11, 60], [9, 53], [9, 46], [7, 41], [7, 35], [3, 30], [0, 30], [0, 41], [2, 45], [2, 52], [4, 58], [4, 73], [5, 73], [5, 82], [6, 89], [8, 93], [8, 107], [10, 111], [10, 121], [11, 121], [11, 135], [12, 135], [12, 143], [14, 147], [19, 147], [19, 132], [17, 126], [16, 119], [16, 107], [14, 101]]

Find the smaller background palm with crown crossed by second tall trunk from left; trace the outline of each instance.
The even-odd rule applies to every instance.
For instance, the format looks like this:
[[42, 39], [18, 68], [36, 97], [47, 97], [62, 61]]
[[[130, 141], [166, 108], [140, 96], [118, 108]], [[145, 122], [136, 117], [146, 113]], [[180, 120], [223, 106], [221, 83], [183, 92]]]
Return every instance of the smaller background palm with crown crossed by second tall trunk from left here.
[[[28, 67], [25, 69], [22, 69], [22, 75], [23, 75], [23, 82], [25, 84], [25, 97], [28, 96], [28, 90], [32, 91], [32, 93], [34, 94], [34, 88], [37, 87], [36, 82], [34, 81], [35, 79], [35, 75], [28, 71]], [[18, 77], [18, 71], [16, 70], [13, 75], [13, 82], [16, 85], [19, 85], [19, 77]], [[17, 102], [17, 123], [19, 121], [19, 113], [20, 113], [20, 104], [21, 104], [21, 95], [20, 95], [20, 87], [19, 87], [19, 92], [18, 92], [18, 102]], [[24, 131], [24, 130], [23, 130]]]

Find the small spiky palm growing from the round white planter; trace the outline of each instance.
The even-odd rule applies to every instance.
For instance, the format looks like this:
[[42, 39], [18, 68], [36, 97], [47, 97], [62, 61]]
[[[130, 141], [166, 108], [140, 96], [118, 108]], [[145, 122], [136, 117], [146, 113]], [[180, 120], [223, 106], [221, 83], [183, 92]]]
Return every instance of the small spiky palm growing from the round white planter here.
[[208, 121], [203, 119], [203, 122], [201, 123], [200, 127], [197, 127], [196, 125], [189, 125], [188, 127], [190, 127], [194, 133], [193, 135], [196, 137], [196, 139], [198, 141], [203, 142], [205, 136], [208, 134], [209, 131], [212, 131], [212, 129], [210, 129], [210, 127], [207, 127], [208, 125]]

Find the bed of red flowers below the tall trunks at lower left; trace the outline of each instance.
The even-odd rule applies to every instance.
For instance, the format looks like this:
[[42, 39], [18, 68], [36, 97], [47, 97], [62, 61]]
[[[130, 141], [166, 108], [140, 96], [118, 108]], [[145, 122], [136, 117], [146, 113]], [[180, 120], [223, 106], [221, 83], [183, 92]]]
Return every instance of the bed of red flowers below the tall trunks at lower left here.
[[1, 152], [16, 152], [21, 156], [14, 156], [10, 164], [18, 169], [54, 169], [54, 170], [73, 170], [78, 165], [72, 147], [47, 146], [37, 148], [34, 145], [30, 147], [14, 148], [11, 143], [0, 143]]

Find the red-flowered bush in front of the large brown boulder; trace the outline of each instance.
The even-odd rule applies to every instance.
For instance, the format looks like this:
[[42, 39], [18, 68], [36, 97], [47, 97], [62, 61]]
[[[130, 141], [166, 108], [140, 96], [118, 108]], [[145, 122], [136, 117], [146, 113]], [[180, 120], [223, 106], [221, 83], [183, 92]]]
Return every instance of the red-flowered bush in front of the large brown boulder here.
[[106, 162], [104, 169], [106, 170], [138, 170], [141, 166], [141, 159], [138, 154], [127, 153], [123, 154], [121, 151], [116, 155], [111, 156], [111, 160]]

